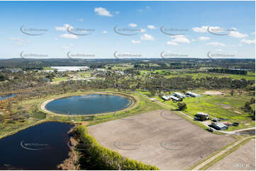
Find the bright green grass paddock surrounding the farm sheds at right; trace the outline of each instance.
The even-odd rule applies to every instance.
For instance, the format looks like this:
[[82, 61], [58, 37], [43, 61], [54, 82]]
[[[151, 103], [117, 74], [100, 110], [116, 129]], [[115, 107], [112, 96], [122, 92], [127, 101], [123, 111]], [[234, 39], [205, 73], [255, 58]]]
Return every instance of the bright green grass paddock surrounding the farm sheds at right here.
[[[143, 95], [150, 96], [150, 92], [147, 90], [138, 90]], [[226, 95], [204, 95], [203, 90], [194, 91], [201, 95], [200, 98], [185, 98], [182, 102], [187, 104], [187, 110], [184, 113], [191, 117], [197, 112], [205, 112], [210, 115], [211, 118], [227, 118], [228, 122], [239, 122], [239, 126], [230, 126], [229, 131], [235, 129], [243, 129], [251, 126], [255, 126], [255, 121], [252, 121], [252, 114], [249, 112], [244, 112], [241, 107], [245, 105], [245, 102], [250, 101], [254, 96], [244, 95], [244, 96], [231, 96]], [[174, 92], [171, 92], [173, 94]], [[170, 107], [177, 108], [177, 102], [172, 102], [172, 100], [162, 100], [158, 96], [155, 96], [157, 100], [169, 105]], [[253, 104], [255, 107], [255, 104]], [[253, 107], [252, 107], [253, 108]]]

